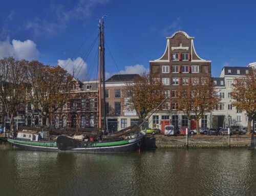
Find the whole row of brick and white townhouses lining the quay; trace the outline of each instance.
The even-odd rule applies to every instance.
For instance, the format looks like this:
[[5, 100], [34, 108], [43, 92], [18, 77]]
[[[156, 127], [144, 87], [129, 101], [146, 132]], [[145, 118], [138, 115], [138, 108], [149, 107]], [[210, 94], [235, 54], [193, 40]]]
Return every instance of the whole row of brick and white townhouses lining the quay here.
[[[177, 104], [172, 102], [176, 96], [177, 87], [186, 84], [190, 79], [211, 75], [211, 61], [202, 59], [196, 53], [194, 37], [183, 31], [177, 31], [172, 36], [166, 37], [167, 44], [163, 55], [150, 61], [150, 73], [165, 85], [165, 94], [169, 97], [165, 110], [157, 111], [146, 122], [145, 126], [160, 128], [165, 124], [175, 126], [196, 127], [195, 120], [188, 120], [186, 116], [177, 111]], [[245, 112], [236, 110], [231, 104], [230, 92], [234, 78], [241, 77], [256, 63], [248, 67], [224, 67], [219, 78], [214, 78], [216, 89], [221, 98], [221, 103], [216, 110], [207, 112], [199, 122], [202, 127], [226, 127], [228, 125], [247, 125]], [[127, 81], [132, 81], [137, 74], [114, 75], [105, 81], [106, 92], [106, 125], [110, 133], [138, 122], [135, 111], [125, 108], [124, 88]], [[97, 127], [98, 126], [98, 81], [75, 80], [75, 85], [70, 93], [68, 102], [59, 111], [51, 116], [51, 124], [57, 128], [63, 127]], [[2, 106], [0, 103], [0, 112]], [[3, 111], [0, 116], [0, 126], [8, 125], [10, 120]], [[31, 103], [26, 109], [20, 110], [14, 117], [14, 126], [22, 124], [41, 126], [46, 124]], [[254, 127], [256, 127], [254, 125]]]

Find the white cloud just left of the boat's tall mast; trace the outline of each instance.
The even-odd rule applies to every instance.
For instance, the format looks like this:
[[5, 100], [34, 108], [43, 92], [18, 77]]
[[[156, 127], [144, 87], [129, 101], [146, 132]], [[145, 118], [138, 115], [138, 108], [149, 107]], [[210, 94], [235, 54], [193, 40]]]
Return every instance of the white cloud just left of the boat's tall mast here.
[[77, 57], [76, 59], [70, 59], [67, 60], [58, 60], [58, 65], [67, 70], [68, 73], [73, 75], [75, 78], [78, 78], [79, 80], [83, 80], [86, 78], [87, 75], [87, 63], [81, 58]]

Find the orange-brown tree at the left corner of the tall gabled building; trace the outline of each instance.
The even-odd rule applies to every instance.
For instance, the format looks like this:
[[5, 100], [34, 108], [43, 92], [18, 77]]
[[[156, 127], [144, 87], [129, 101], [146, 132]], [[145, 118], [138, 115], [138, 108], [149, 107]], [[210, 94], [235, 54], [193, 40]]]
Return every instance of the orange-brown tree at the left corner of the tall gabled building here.
[[138, 75], [126, 83], [124, 106], [129, 111], [135, 110], [140, 120], [144, 119], [165, 98], [163, 90], [157, 78], [147, 73]]

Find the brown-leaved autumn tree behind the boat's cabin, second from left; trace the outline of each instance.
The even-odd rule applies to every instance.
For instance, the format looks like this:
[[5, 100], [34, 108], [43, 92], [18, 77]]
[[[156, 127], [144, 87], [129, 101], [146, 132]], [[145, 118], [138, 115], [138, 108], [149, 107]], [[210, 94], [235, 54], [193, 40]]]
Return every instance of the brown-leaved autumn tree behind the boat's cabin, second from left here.
[[67, 102], [73, 77], [59, 66], [31, 61], [26, 67], [26, 78], [31, 85], [28, 99], [49, 126], [50, 115]]

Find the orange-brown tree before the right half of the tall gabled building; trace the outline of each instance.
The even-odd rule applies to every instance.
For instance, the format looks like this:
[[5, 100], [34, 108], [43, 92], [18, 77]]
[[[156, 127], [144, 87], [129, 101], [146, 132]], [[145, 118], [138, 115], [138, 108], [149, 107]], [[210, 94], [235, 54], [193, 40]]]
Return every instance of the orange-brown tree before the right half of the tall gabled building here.
[[220, 101], [214, 81], [210, 76], [189, 78], [189, 81], [183, 81], [177, 90], [174, 102], [178, 104], [178, 111], [183, 112], [187, 119], [196, 120], [199, 133], [199, 120]]

